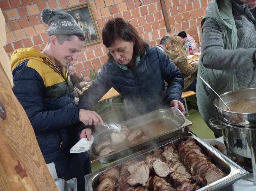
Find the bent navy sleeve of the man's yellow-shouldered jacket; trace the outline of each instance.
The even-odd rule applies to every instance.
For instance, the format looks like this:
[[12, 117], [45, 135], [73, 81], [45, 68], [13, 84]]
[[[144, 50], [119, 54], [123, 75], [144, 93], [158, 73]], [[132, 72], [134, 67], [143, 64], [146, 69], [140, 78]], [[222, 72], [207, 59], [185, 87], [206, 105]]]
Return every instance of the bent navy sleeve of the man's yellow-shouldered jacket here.
[[44, 81], [33, 68], [27, 66], [15, 68], [13, 80], [13, 92], [27, 113], [35, 133], [55, 131], [79, 121], [79, 110], [71, 102], [61, 109], [45, 110]]

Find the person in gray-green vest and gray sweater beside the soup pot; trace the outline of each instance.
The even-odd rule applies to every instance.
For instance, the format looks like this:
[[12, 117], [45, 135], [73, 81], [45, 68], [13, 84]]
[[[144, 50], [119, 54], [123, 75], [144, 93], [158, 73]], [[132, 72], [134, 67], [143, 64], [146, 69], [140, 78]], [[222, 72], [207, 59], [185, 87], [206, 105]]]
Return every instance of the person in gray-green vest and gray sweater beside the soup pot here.
[[[219, 95], [256, 87], [255, 7], [256, 0], [212, 0], [207, 5], [198, 75]], [[197, 81], [196, 92], [199, 112], [209, 126], [209, 119], [216, 116], [216, 94], [202, 80]], [[221, 130], [212, 130], [216, 137], [222, 136]]]

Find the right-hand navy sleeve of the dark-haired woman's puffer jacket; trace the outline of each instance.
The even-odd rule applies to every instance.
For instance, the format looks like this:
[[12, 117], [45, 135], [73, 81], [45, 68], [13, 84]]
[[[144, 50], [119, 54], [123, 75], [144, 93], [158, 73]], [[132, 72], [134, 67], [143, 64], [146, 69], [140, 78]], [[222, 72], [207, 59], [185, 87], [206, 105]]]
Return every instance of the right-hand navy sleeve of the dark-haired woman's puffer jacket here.
[[173, 61], [161, 50], [157, 50], [162, 76], [167, 82], [166, 101], [179, 100], [184, 86], [183, 74]]

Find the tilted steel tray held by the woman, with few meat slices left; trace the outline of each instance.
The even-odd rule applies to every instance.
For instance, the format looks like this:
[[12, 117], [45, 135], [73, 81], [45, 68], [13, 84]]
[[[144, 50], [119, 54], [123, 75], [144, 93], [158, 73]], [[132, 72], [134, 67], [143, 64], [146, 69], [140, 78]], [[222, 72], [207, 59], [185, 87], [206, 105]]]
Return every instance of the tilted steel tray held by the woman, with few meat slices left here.
[[[145, 124], [154, 123], [156, 121], [161, 121], [162, 123], [168, 124], [168, 128], [159, 129], [155, 126], [143, 126]], [[100, 163], [110, 163], [118, 159], [124, 158], [131, 154], [137, 153], [145, 148], [148, 148], [149, 145], [155, 144], [156, 142], [167, 140], [171, 137], [180, 135], [182, 129], [192, 124], [187, 119], [182, 119], [175, 115], [169, 109], [159, 109], [153, 112], [141, 115], [139, 117], [124, 121], [120, 123], [121, 125], [126, 125], [131, 131], [135, 129], [142, 130], [146, 136], [149, 138], [145, 141], [142, 141], [135, 145], [125, 145], [125, 143], [119, 144], [117, 151], [109, 153], [104, 156], [98, 156], [94, 151], [94, 146], [97, 145], [103, 136], [112, 133], [111, 130], [99, 130], [94, 136], [94, 143], [90, 149], [90, 160], [91, 162], [99, 161]], [[167, 125], [165, 124], [165, 127]], [[141, 128], [140, 128], [141, 127]]]

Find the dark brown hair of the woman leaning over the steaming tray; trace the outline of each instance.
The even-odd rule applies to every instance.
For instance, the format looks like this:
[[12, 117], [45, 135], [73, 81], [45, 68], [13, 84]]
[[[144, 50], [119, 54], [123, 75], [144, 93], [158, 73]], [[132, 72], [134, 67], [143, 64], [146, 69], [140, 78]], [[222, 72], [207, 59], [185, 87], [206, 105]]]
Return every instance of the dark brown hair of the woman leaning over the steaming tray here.
[[[137, 30], [123, 18], [110, 19], [102, 30], [102, 41], [107, 48], [117, 39], [128, 42], [132, 42], [132, 39], [135, 40], [133, 59], [136, 59], [136, 56], [143, 54], [147, 50], [147, 44], [138, 35]], [[108, 53], [108, 61], [113, 61], [113, 56], [110, 53]]]

